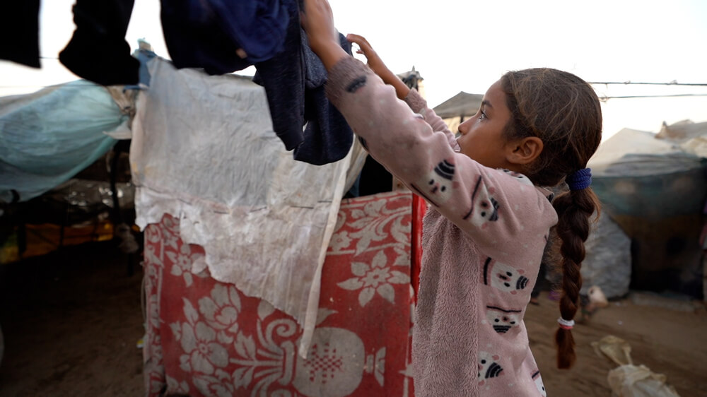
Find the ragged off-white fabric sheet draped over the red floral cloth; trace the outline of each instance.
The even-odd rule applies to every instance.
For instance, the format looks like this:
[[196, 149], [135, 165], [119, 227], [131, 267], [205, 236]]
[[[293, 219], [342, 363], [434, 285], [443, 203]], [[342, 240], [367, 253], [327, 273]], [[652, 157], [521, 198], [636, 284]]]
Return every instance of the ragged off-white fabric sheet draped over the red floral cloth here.
[[262, 87], [149, 62], [130, 152], [136, 224], [180, 219], [204, 247], [194, 271], [233, 283], [314, 329], [325, 251], [350, 156], [317, 167], [293, 160], [272, 131]]

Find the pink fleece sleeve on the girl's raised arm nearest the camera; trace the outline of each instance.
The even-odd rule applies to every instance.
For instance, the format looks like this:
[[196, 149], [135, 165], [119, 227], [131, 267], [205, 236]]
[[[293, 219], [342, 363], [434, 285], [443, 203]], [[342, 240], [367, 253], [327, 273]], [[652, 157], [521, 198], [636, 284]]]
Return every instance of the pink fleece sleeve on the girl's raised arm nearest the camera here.
[[460, 227], [480, 251], [491, 256], [520, 235], [527, 239], [529, 232], [533, 239], [547, 237], [554, 223], [547, 219], [549, 200], [527, 177], [457, 153], [451, 132], [421, 98], [407, 98], [412, 105], [406, 105], [354, 58], [334, 65], [326, 90], [368, 153]]

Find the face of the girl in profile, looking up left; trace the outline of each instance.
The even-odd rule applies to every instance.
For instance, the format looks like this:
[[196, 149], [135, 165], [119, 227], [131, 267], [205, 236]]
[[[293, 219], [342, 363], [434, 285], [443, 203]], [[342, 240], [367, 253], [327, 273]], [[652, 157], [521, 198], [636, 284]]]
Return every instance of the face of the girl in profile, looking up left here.
[[460, 152], [486, 167], [512, 169], [513, 165], [506, 160], [512, 143], [503, 137], [509, 120], [506, 93], [501, 90], [499, 80], [486, 91], [479, 112], [459, 124], [461, 136], [457, 138], [457, 143]]

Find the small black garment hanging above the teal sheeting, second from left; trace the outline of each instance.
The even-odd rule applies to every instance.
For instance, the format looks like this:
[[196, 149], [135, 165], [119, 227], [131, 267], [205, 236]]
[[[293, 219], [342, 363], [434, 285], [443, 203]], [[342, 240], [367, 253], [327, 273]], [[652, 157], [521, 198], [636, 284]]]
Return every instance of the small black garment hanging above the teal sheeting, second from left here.
[[134, 0], [76, 0], [76, 30], [59, 61], [100, 85], [137, 84], [140, 62], [125, 41]]

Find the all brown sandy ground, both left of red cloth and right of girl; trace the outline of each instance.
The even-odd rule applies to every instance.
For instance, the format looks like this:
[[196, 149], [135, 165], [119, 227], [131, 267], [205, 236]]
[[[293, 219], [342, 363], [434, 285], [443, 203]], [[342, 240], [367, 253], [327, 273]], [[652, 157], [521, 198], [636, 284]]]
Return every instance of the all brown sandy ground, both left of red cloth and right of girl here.
[[[0, 396], [141, 396], [141, 268], [111, 242], [65, 247], [0, 267], [5, 354]], [[549, 396], [610, 396], [617, 367], [591, 343], [604, 336], [631, 345], [636, 365], [665, 374], [680, 396], [707, 388], [707, 312], [701, 302], [633, 295], [575, 326], [578, 362], [554, 367], [558, 309], [547, 293], [527, 310], [530, 341]]]

